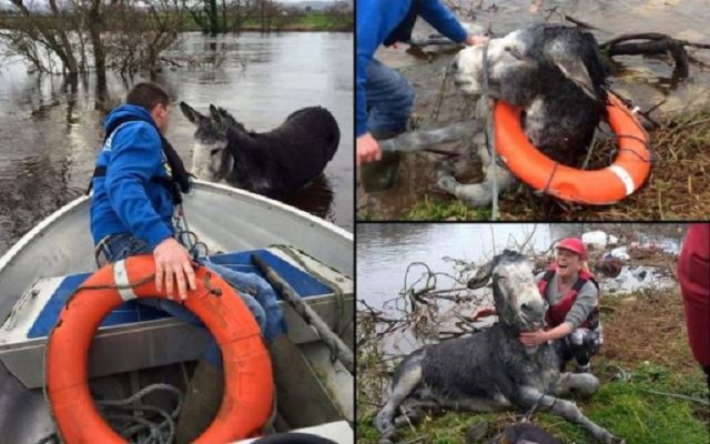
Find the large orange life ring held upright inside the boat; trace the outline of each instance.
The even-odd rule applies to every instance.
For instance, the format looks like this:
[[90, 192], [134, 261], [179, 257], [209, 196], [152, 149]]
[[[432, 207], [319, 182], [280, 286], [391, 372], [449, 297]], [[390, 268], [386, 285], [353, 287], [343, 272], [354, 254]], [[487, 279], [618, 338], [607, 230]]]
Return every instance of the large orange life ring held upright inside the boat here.
[[[152, 255], [129, 258], [106, 265], [91, 275], [82, 286], [124, 285], [145, 280], [155, 272]], [[195, 272], [197, 290], [191, 291], [184, 304], [210, 330], [222, 350], [224, 395], [214, 422], [194, 442], [225, 443], [252, 437], [266, 423], [272, 412], [273, 376], [268, 352], [256, 321], [241, 297], [221, 278], [210, 276], [210, 286], [222, 290], [222, 296], [205, 287], [206, 269]], [[49, 337], [47, 350], [47, 393], [51, 412], [64, 442], [125, 443], [101, 417], [89, 392], [88, 354], [91, 340], [101, 321], [116, 306], [133, 297], [163, 297], [155, 280], [133, 289], [82, 290], [62, 310]]]

